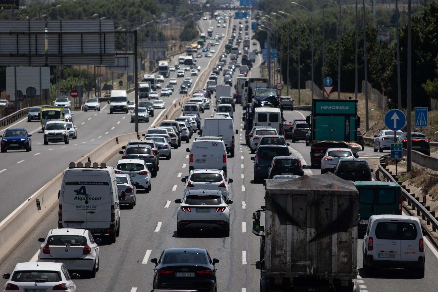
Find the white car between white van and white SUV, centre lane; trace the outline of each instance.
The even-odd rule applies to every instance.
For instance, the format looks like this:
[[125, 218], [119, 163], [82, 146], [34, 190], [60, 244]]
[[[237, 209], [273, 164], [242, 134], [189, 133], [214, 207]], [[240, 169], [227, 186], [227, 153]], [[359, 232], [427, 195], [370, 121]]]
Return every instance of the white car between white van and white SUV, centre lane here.
[[[198, 140], [198, 138], [196, 138]], [[219, 190], [228, 199], [228, 188], [233, 179], [229, 178], [228, 182], [222, 170], [204, 168], [191, 170], [189, 175], [181, 178], [181, 182], [185, 182], [184, 193], [194, 189], [211, 189]]]

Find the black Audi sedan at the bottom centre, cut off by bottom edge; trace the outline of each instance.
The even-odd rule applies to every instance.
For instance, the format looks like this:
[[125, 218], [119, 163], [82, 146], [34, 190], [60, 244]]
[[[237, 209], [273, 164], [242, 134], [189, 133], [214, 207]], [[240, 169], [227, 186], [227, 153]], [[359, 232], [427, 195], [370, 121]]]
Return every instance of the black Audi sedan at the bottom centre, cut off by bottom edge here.
[[217, 259], [211, 259], [205, 249], [165, 249], [159, 260], [151, 259], [154, 267], [154, 289], [184, 289], [216, 291]]

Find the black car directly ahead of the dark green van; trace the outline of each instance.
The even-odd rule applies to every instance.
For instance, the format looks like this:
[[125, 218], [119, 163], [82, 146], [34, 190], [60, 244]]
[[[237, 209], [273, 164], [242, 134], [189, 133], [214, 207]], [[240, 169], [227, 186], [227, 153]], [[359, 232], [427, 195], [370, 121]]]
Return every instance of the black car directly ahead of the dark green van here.
[[347, 181], [372, 181], [371, 172], [366, 159], [341, 158], [336, 164], [334, 174]]

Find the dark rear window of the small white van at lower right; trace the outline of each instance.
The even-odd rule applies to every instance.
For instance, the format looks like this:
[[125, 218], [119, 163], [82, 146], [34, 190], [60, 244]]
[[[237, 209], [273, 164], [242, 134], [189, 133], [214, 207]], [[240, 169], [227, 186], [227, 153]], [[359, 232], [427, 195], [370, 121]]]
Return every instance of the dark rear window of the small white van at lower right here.
[[409, 222], [379, 222], [376, 226], [376, 238], [387, 240], [415, 240], [417, 226]]

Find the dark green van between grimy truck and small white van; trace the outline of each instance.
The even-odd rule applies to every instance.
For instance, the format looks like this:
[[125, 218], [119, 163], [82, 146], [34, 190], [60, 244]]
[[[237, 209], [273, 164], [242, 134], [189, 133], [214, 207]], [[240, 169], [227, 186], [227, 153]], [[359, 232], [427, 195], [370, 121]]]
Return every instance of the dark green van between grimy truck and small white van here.
[[372, 215], [402, 214], [402, 191], [396, 182], [353, 182], [359, 192], [359, 235]]

